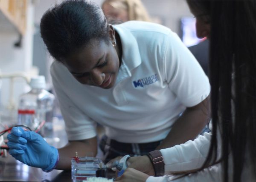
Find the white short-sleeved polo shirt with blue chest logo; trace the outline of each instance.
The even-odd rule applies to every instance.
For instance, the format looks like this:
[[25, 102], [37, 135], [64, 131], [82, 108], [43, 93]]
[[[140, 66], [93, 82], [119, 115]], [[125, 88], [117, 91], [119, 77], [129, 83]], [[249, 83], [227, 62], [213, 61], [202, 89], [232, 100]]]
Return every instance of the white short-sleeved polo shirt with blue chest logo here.
[[68, 139], [95, 137], [96, 122], [119, 142], [164, 139], [186, 107], [209, 95], [208, 77], [169, 28], [129, 21], [114, 29], [122, 42], [122, 64], [113, 88], [82, 85], [62, 63], [52, 63]]

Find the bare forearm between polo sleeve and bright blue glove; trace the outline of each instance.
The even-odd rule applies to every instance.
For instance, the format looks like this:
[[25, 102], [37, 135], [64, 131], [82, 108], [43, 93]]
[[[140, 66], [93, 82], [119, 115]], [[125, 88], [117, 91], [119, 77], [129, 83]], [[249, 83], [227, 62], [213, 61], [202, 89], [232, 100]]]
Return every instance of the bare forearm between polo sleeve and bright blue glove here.
[[71, 159], [73, 156], [96, 156], [97, 138], [91, 138], [81, 141], [70, 141], [63, 148], [58, 149], [59, 162], [55, 169], [70, 170]]

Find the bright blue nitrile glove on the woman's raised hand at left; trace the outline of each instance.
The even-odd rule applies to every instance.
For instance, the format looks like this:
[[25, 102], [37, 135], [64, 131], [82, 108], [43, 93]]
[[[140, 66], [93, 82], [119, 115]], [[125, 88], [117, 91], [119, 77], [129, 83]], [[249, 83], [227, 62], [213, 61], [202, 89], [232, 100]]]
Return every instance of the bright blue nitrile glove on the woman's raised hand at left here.
[[58, 150], [50, 146], [41, 135], [13, 127], [7, 135], [9, 154], [26, 165], [49, 171], [58, 160]]

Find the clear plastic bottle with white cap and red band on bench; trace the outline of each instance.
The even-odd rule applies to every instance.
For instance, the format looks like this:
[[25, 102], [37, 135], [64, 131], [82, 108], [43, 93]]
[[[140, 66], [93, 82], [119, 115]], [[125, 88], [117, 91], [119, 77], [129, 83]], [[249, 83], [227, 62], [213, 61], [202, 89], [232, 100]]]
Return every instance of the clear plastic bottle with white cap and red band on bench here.
[[18, 124], [27, 125], [32, 131], [45, 136], [52, 131], [55, 97], [45, 90], [45, 77], [33, 77], [31, 90], [22, 94], [18, 104]]

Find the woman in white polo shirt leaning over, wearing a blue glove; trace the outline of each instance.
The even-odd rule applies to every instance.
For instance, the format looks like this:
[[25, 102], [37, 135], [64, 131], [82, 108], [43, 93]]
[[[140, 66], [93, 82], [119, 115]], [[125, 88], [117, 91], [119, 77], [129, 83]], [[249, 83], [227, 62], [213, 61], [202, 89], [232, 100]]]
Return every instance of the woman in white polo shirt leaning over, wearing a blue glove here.
[[[99, 6], [82, 0], [48, 10], [40, 26], [56, 59], [52, 82], [69, 139], [54, 152], [38, 146], [41, 155], [53, 156], [41, 168], [70, 169], [76, 151], [96, 155], [96, 123], [105, 126], [105, 161], [184, 143], [207, 124], [208, 78], [169, 28], [140, 21], [112, 26]], [[19, 152], [13, 137], [26, 134], [17, 130], [9, 137], [10, 154], [26, 162], [20, 155], [27, 150]], [[29, 165], [40, 167], [37, 160]]]

